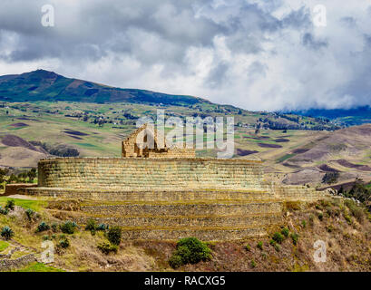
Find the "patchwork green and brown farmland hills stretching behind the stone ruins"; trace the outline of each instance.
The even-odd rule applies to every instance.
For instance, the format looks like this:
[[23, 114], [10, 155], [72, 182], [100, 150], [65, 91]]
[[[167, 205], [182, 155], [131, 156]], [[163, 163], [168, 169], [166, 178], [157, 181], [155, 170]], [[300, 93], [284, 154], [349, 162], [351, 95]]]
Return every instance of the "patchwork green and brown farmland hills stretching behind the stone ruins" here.
[[[165, 118], [181, 117], [183, 120], [186, 117], [234, 117], [234, 158], [264, 160], [266, 172], [277, 173], [277, 179], [289, 184], [319, 186], [323, 176], [334, 170], [341, 173], [339, 181], [371, 179], [369, 124], [339, 131], [271, 130], [264, 125], [264, 120], [280, 120], [281, 117], [209, 102], [190, 106], [3, 103], [0, 106], [0, 166], [35, 167], [41, 158], [55, 155], [55, 148], [77, 150], [76, 154], [82, 157], [119, 157], [121, 141], [136, 129], [136, 121], [144, 116], [156, 120], [158, 109], [164, 110]], [[296, 118], [302, 123], [318, 125], [316, 119]], [[172, 129], [165, 128], [165, 131]], [[193, 139], [193, 136], [183, 136], [183, 140]], [[196, 151], [197, 156], [217, 156], [217, 149], [206, 148], [211, 141], [213, 139], [205, 135], [204, 148]]]

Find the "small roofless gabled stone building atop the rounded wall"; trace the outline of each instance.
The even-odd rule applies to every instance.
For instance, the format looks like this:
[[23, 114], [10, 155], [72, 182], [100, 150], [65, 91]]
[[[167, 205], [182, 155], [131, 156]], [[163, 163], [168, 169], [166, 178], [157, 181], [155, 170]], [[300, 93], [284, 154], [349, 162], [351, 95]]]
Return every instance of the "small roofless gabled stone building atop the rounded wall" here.
[[194, 149], [171, 147], [165, 136], [151, 124], [144, 124], [122, 141], [122, 158], [194, 158]]

